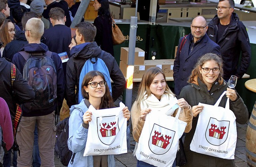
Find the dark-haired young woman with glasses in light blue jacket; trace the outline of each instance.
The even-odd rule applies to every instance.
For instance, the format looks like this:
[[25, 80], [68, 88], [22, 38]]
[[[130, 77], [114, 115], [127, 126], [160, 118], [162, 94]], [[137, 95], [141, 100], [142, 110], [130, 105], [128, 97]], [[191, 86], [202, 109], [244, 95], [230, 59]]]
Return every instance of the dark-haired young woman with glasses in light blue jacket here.
[[[70, 162], [68, 166], [113, 167], [115, 166], [114, 155], [83, 156], [89, 122], [92, 120], [92, 112], [88, 111], [88, 107], [90, 105], [95, 109], [115, 107], [103, 74], [98, 71], [88, 72], [84, 76], [81, 90], [84, 99], [80, 104], [73, 105], [70, 108], [68, 148], [76, 155], [74, 156], [74, 162]], [[124, 117], [129, 120], [130, 111], [128, 107], [124, 107], [123, 113]]]

